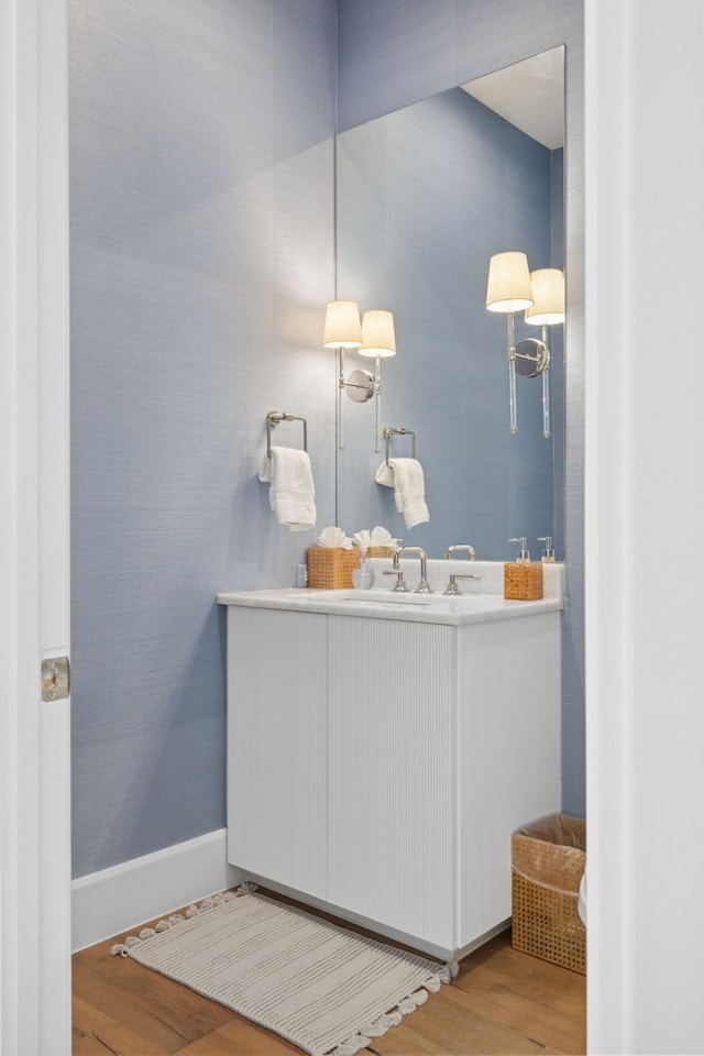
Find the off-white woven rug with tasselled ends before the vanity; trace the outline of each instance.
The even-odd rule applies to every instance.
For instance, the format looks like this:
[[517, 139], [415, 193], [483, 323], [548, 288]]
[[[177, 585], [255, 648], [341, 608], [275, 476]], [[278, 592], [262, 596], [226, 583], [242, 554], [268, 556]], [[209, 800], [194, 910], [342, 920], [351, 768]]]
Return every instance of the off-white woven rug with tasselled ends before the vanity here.
[[185, 983], [311, 1056], [352, 1056], [457, 974], [243, 888], [160, 921], [111, 954]]

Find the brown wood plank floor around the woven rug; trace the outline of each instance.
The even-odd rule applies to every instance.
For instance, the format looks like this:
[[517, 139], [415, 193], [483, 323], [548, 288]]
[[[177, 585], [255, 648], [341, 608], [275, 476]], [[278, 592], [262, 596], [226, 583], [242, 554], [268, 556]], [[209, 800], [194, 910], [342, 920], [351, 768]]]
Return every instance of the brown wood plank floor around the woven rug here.
[[[123, 937], [74, 954], [74, 1056], [300, 1054], [187, 987], [130, 958], [110, 957], [110, 947]], [[505, 932], [464, 958], [450, 986], [360, 1056], [581, 1056], [585, 1050], [584, 977], [518, 953]]]

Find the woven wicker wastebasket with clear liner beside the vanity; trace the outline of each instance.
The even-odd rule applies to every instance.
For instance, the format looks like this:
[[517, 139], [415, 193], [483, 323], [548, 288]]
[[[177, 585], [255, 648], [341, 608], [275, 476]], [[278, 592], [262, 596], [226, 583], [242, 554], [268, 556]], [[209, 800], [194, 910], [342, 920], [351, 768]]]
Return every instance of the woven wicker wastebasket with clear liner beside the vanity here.
[[548, 814], [512, 835], [512, 945], [582, 975], [586, 930], [578, 912], [586, 859], [581, 817]]

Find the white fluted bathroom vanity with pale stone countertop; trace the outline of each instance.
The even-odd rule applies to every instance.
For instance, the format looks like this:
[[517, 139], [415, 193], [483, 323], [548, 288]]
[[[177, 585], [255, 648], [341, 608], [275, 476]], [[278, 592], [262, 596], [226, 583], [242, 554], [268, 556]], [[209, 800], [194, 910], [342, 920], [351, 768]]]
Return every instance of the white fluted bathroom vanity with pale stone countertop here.
[[219, 595], [228, 857], [461, 956], [510, 917], [513, 829], [560, 809], [561, 587], [507, 602], [384, 586]]

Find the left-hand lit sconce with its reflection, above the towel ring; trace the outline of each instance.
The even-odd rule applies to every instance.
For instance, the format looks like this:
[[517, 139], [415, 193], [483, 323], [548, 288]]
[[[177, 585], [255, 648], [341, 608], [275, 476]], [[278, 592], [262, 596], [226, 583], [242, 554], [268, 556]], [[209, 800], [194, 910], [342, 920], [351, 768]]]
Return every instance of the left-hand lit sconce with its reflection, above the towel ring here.
[[[344, 448], [342, 393], [346, 392], [355, 403], [365, 403], [376, 396], [376, 437], [381, 451], [380, 404], [382, 393], [381, 360], [396, 355], [394, 316], [391, 311], [373, 309], [365, 311], [360, 322], [360, 309], [354, 300], [332, 300], [326, 311], [326, 326], [322, 338], [326, 349], [338, 352], [338, 448]], [[344, 377], [344, 351], [354, 349], [360, 355], [376, 359], [376, 373], [355, 370]]]

